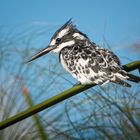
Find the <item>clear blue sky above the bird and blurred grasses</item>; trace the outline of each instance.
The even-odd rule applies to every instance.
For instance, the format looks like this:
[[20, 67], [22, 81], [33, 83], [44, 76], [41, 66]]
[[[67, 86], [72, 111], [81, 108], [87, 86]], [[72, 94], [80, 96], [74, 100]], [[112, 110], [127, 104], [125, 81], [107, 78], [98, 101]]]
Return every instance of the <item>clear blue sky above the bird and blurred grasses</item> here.
[[0, 24], [7, 28], [31, 23], [61, 26], [71, 17], [97, 44], [104, 43], [105, 36], [115, 53], [139, 58], [129, 48], [140, 40], [139, 0], [0, 0]]

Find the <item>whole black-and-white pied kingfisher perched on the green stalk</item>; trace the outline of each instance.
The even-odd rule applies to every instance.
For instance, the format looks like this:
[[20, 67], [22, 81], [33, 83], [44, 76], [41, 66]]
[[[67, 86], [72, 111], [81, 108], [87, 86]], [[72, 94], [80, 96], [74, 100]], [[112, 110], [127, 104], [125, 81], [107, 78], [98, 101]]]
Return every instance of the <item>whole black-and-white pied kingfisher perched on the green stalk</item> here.
[[126, 80], [140, 82], [140, 77], [126, 72], [112, 51], [92, 42], [69, 19], [52, 36], [47, 47], [33, 55], [31, 62], [49, 52], [58, 53], [59, 61], [81, 85], [105, 85], [109, 82], [131, 87]]

